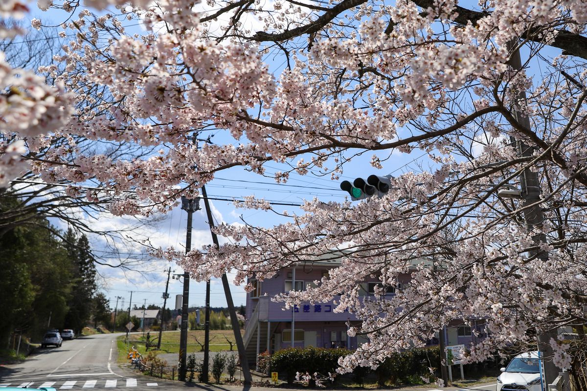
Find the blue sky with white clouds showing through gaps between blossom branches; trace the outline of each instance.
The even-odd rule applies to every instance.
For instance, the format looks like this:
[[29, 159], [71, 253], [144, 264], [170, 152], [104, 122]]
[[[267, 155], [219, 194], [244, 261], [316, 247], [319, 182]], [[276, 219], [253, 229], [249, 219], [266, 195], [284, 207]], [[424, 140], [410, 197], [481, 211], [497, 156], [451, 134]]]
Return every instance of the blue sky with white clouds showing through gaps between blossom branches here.
[[[56, 11], [41, 12], [31, 4], [31, 15], [28, 15], [26, 20], [37, 17], [42, 20], [49, 19], [50, 21], [61, 21], [63, 13]], [[25, 22], [26, 23], [26, 22]], [[58, 23], [55, 23], [58, 24]], [[124, 25], [130, 25], [130, 29], [140, 31], [140, 26], [137, 26], [135, 21], [126, 21]], [[58, 29], [55, 30], [55, 34]], [[26, 39], [23, 38], [23, 39]], [[545, 51], [548, 55], [556, 55], [559, 50]], [[522, 57], [524, 53], [522, 52]], [[284, 59], [275, 52], [269, 53], [265, 57], [266, 62], [269, 63], [271, 69], [278, 77], [279, 73], [285, 67]], [[534, 64], [532, 70], [539, 75], [541, 70]], [[234, 142], [227, 138], [218, 136], [217, 142]], [[380, 152], [377, 155], [381, 158], [386, 158], [389, 152]], [[245, 171], [243, 168], [232, 168], [217, 174], [216, 178], [207, 185], [208, 196], [211, 198], [232, 199], [241, 198], [245, 195], [255, 195], [258, 198], [265, 198], [273, 202], [279, 203], [301, 203], [303, 199], [316, 198], [328, 202], [331, 200], [342, 201], [346, 195], [345, 192], [340, 191], [339, 183], [343, 180], [353, 181], [357, 176], [367, 178], [371, 174], [377, 175], [400, 175], [403, 172], [420, 172], [419, 163], [426, 164], [426, 154], [420, 150], [415, 150], [411, 154], [402, 154], [401, 152], [394, 152], [392, 158], [382, 162], [383, 169], [377, 170], [372, 168], [369, 164], [372, 157], [372, 152], [366, 152], [360, 157], [356, 157], [352, 162], [345, 165], [343, 175], [337, 181], [331, 181], [329, 176], [316, 176], [313, 174], [300, 176], [292, 173], [289, 182], [286, 185], [277, 185], [271, 178], [264, 178], [259, 175], [252, 174]], [[426, 167], [426, 165], [425, 165]], [[284, 166], [269, 162], [265, 165], [267, 174], [275, 171], [283, 171]], [[202, 203], [203, 205], [203, 203]], [[259, 210], [245, 210], [235, 209], [230, 201], [211, 200], [212, 209], [214, 212], [216, 222], [225, 223], [241, 223], [241, 216], [247, 223], [259, 226], [272, 226], [284, 222], [284, 217], [278, 216], [273, 212], [263, 212]], [[278, 212], [288, 210], [288, 212], [301, 213], [296, 206], [275, 206]], [[150, 243], [154, 246], [169, 247], [173, 246], [176, 249], [184, 249], [185, 247], [185, 226], [187, 223], [187, 214], [180, 210], [174, 209], [171, 213], [164, 216], [162, 220], [150, 229], [143, 229], [137, 232], [137, 240], [149, 238]], [[119, 227], [126, 224], [124, 219], [113, 216], [100, 216], [98, 222], [95, 223], [100, 228]], [[194, 214], [194, 232], [192, 239], [192, 247], [197, 248], [205, 244], [211, 244], [210, 230], [207, 224], [207, 218], [203, 211]], [[98, 256], [102, 256], [104, 260], [116, 263], [118, 259], [112, 258], [113, 254], [104, 246], [103, 238], [90, 238], [93, 247]], [[223, 238], [220, 238], [224, 241]], [[149, 259], [144, 256], [144, 247], [139, 244], [134, 244], [131, 247], [119, 245], [118, 251], [123, 256], [138, 256]], [[99, 267], [99, 272], [103, 276], [102, 290], [110, 298], [110, 304], [114, 307], [116, 297], [122, 297], [119, 300], [119, 308], [129, 305], [130, 291], [133, 291], [133, 304], [143, 304], [146, 300], [147, 304], [162, 305], [163, 299], [161, 294], [164, 291], [165, 280], [167, 273], [165, 270], [169, 267], [166, 261], [162, 260], [147, 260], [139, 270], [122, 270], [120, 268]], [[176, 273], [181, 273], [181, 269], [177, 266], [171, 265], [172, 270]], [[230, 278], [229, 278], [230, 280]], [[204, 283], [192, 282], [190, 287], [190, 305], [201, 306], [204, 305]], [[212, 280], [211, 283], [211, 305], [214, 307], [221, 307], [225, 305], [224, 292], [220, 281]], [[168, 301], [168, 307], [173, 307], [174, 296], [181, 294], [181, 284], [177, 280], [170, 280], [169, 292], [171, 299]], [[233, 300], [235, 304], [240, 305], [245, 303], [245, 293], [242, 287], [232, 287]], [[122, 304], [124, 300], [124, 304]]]

